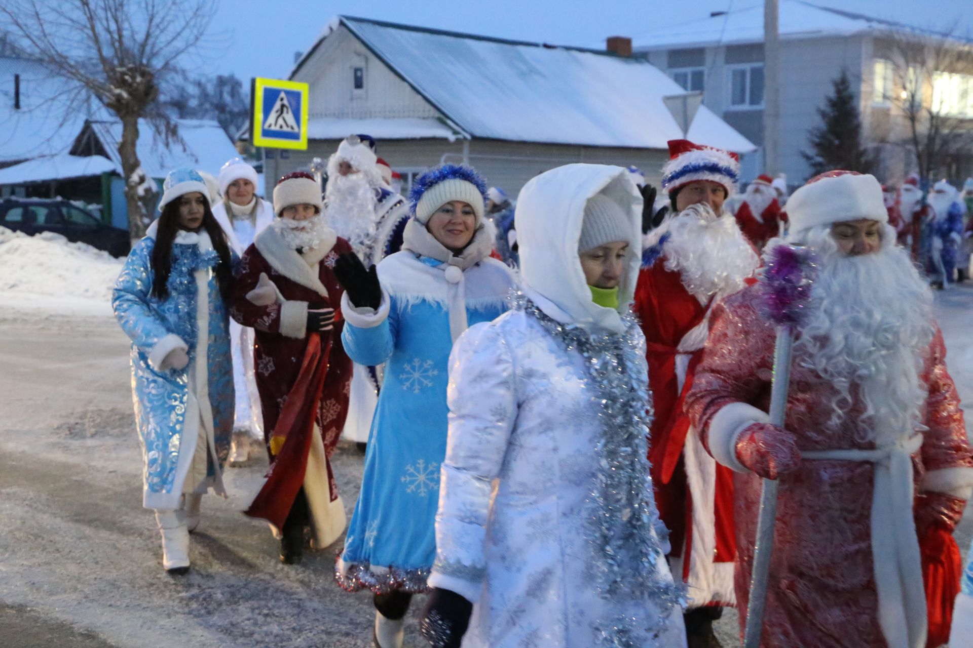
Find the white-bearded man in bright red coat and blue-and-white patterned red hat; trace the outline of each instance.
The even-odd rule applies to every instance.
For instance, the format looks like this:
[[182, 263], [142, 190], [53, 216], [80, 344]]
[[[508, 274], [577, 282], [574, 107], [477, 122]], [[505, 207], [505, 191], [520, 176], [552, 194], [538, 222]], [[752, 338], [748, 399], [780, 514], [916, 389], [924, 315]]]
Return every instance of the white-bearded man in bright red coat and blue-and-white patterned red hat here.
[[717, 466], [683, 413], [712, 306], [744, 286], [758, 257], [723, 202], [736, 189], [734, 153], [686, 140], [669, 144], [663, 190], [672, 212], [653, 229], [635, 290], [655, 407], [649, 460], [672, 573], [689, 586], [689, 645], [718, 646], [712, 622], [734, 604], [731, 473]]

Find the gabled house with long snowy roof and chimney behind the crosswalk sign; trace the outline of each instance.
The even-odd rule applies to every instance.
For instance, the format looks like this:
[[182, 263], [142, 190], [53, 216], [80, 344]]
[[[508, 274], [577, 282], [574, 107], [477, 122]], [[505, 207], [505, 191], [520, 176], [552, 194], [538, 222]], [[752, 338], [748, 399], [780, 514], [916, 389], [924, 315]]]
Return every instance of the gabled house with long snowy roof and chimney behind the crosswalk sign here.
[[684, 136], [755, 149], [704, 107], [683, 133], [663, 98], [684, 90], [610, 40], [615, 51], [594, 51], [337, 17], [290, 75], [310, 85], [308, 149], [264, 150], [265, 173], [307, 168], [352, 133], [375, 137], [406, 185], [466, 162], [514, 195], [569, 162], [634, 164], [658, 183], [667, 141]]

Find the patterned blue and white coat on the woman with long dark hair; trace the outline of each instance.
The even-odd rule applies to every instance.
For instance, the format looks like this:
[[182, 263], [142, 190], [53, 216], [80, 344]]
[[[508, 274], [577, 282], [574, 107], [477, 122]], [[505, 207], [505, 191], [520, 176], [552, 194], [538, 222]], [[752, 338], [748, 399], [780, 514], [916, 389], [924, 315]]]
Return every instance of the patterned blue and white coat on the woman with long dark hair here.
[[[112, 307], [131, 339], [131, 389], [143, 453], [142, 503], [179, 507], [198, 434], [206, 434], [214, 465], [208, 481], [225, 495], [222, 467], [234, 425], [234, 373], [230, 316], [214, 269], [219, 256], [203, 232], [180, 231], [172, 244], [168, 295], [152, 294], [156, 223], [128, 254], [112, 294]], [[235, 255], [233, 255], [235, 260]], [[200, 336], [199, 331], [206, 334]], [[162, 369], [174, 349], [189, 355], [181, 370]]]

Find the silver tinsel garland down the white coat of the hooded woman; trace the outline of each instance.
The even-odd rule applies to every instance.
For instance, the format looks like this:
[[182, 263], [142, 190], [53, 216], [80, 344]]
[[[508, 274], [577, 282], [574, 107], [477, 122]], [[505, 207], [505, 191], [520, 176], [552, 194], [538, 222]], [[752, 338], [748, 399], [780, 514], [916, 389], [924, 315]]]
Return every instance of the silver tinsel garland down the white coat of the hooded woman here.
[[553, 320], [521, 291], [512, 294], [511, 302], [512, 308], [526, 312], [559, 340], [565, 351], [584, 358], [602, 429], [595, 446], [599, 470], [586, 520], [598, 589], [607, 600], [651, 600], [658, 608], [651, 620], [626, 615], [599, 620], [601, 645], [646, 645], [667, 627], [673, 609], [684, 607], [686, 601], [681, 583], [674, 584], [660, 572], [668, 531], [659, 519], [649, 475], [651, 398], [631, 374], [644, 353], [638, 322], [629, 314], [623, 317], [624, 333], [592, 332]]

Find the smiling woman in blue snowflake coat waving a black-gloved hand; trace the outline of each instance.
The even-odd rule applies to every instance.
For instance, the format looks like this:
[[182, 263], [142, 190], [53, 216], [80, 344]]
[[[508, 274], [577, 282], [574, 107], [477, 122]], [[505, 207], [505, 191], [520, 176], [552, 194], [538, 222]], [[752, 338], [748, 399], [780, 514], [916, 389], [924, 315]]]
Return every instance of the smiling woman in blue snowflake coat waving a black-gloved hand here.
[[348, 356], [384, 364], [361, 495], [336, 565], [342, 588], [374, 593], [380, 648], [402, 645], [403, 617], [412, 595], [427, 591], [436, 556], [452, 343], [467, 326], [501, 315], [514, 284], [489, 256], [485, 192], [468, 167], [433, 169], [414, 185], [402, 251], [378, 269], [354, 255], [335, 267]]

